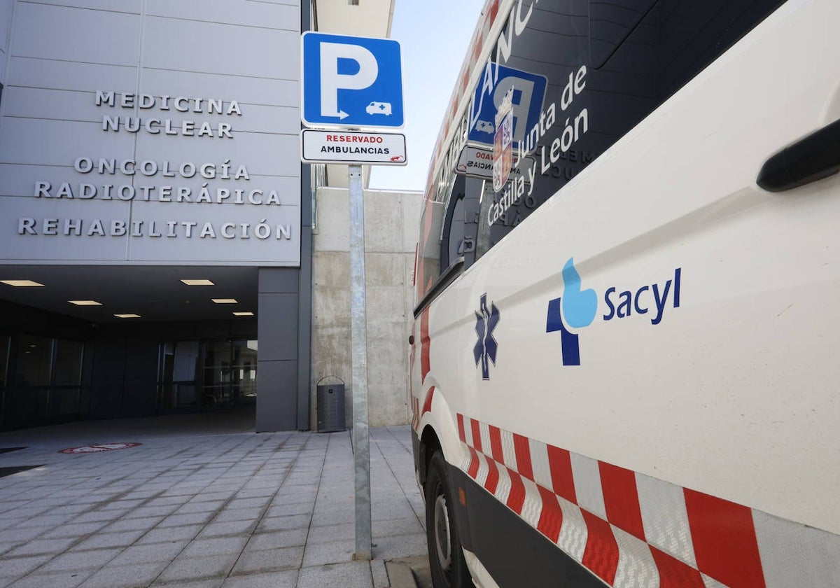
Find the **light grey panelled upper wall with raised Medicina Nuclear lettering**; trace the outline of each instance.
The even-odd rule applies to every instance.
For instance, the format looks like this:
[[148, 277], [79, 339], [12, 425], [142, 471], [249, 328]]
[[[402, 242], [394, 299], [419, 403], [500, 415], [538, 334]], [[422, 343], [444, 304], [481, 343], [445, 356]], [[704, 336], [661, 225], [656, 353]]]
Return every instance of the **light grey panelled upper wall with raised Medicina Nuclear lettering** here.
[[[0, 48], [7, 28], [4, 263], [299, 265], [297, 0], [0, 0]], [[113, 92], [113, 102], [97, 103], [97, 91]], [[143, 95], [154, 97], [152, 108], [139, 107]], [[208, 112], [208, 99], [221, 100], [223, 112]], [[114, 118], [118, 130], [103, 129]], [[135, 118], [141, 128], [129, 132], [126, 119]], [[100, 173], [101, 159], [148, 162], [149, 175], [131, 174], [131, 164]], [[226, 163], [230, 179], [221, 177]], [[192, 165], [206, 176], [185, 177]], [[82, 198], [93, 188], [81, 184], [96, 195]], [[207, 199], [202, 187], [212, 202], [197, 202]], [[192, 202], [176, 202], [179, 189]], [[258, 238], [266, 233], [258, 225], [270, 228], [268, 238]]]

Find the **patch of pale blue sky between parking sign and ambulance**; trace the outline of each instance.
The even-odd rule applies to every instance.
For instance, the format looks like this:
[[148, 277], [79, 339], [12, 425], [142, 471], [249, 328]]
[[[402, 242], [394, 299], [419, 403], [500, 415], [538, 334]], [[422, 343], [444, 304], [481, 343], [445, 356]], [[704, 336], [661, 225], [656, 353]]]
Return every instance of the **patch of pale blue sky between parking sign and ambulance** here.
[[378, 190], [426, 188], [444, 110], [485, 0], [396, 0], [391, 39], [402, 49], [407, 165], [371, 168]]

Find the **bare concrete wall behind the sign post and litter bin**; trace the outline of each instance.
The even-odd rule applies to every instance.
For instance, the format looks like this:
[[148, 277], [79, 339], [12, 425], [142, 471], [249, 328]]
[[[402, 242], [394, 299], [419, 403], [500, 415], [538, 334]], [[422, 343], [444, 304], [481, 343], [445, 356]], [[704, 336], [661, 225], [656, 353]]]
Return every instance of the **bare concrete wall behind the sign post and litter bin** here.
[[[368, 403], [371, 427], [410, 420], [408, 336], [421, 192], [365, 191]], [[350, 394], [349, 197], [319, 188], [312, 257], [312, 428], [316, 384], [342, 378]], [[348, 402], [348, 417], [350, 417]]]

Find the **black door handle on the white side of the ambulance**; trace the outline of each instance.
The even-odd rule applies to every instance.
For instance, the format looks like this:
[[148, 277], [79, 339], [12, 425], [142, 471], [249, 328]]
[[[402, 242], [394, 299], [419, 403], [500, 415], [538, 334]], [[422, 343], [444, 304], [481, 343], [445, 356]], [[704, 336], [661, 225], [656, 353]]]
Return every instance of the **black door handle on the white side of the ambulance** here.
[[840, 120], [788, 145], [759, 171], [756, 183], [768, 192], [785, 192], [840, 171]]

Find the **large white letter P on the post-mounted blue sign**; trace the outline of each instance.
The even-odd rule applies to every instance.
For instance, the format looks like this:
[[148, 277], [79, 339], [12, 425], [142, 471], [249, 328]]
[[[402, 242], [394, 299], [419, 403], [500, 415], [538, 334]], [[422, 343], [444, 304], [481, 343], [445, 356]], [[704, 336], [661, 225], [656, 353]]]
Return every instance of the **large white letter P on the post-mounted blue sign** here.
[[[359, 71], [354, 74], [339, 73], [339, 59], [354, 60]], [[349, 117], [339, 110], [339, 89], [364, 90], [379, 76], [379, 64], [370, 50], [361, 45], [339, 43], [321, 44], [321, 116]]]

